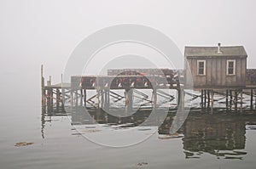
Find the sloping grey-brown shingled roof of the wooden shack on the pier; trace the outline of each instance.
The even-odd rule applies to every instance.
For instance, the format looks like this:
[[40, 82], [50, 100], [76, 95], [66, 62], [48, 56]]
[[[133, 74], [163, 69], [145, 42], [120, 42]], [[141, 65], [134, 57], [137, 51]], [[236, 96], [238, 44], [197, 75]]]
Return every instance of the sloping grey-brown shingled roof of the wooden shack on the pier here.
[[220, 53], [218, 53], [218, 47], [185, 47], [185, 57], [212, 57], [212, 56], [240, 56], [247, 57], [247, 53], [243, 46], [226, 46], [220, 47]]

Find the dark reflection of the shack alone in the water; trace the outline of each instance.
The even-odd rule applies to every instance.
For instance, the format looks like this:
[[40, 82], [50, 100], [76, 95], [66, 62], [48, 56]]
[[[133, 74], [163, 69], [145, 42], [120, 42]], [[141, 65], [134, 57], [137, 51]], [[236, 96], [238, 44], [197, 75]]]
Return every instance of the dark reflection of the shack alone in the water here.
[[227, 152], [245, 148], [245, 121], [239, 115], [189, 115], [183, 130], [186, 158], [196, 158], [195, 154], [202, 152], [225, 158], [229, 158], [227, 155], [246, 154]]

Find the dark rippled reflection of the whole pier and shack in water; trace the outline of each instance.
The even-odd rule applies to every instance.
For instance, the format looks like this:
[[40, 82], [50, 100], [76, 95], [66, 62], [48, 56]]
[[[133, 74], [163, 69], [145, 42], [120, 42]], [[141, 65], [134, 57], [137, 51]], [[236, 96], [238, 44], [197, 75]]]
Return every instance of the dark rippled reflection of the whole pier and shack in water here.
[[[127, 117], [117, 117], [109, 115], [103, 110], [87, 109], [88, 113], [84, 113], [84, 108], [78, 106], [71, 113], [71, 122], [76, 125], [90, 124], [108, 124], [119, 125], [119, 127], [137, 127], [159, 125], [163, 119], [156, 118], [160, 112], [156, 112], [154, 121], [147, 121], [148, 116], [152, 112], [150, 109], [138, 110], [135, 114]], [[42, 113], [42, 136], [44, 138], [44, 123]], [[51, 114], [58, 115], [58, 114]], [[47, 116], [51, 116], [47, 115]], [[176, 118], [175, 111], [170, 111], [158, 127], [159, 138], [178, 138], [167, 137], [173, 119]], [[147, 121], [147, 122], [145, 122]], [[190, 112], [188, 118], [177, 131], [177, 136], [183, 142], [183, 152], [186, 159], [201, 158], [205, 154], [214, 155], [216, 158], [222, 159], [239, 159], [242, 160], [247, 155], [245, 151], [246, 130], [253, 130], [256, 127], [256, 115], [254, 113], [237, 114], [234, 112], [219, 113], [214, 112], [208, 114], [205, 112]], [[164, 137], [166, 136], [166, 137]]]

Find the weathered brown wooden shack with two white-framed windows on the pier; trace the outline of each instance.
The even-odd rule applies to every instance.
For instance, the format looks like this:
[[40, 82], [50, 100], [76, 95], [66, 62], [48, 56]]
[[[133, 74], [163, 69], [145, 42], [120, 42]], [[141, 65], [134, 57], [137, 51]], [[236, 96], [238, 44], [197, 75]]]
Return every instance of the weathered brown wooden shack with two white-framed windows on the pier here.
[[[194, 88], [239, 88], [246, 85], [247, 53], [243, 46], [185, 47], [187, 85]], [[189, 72], [191, 71], [191, 73]]]

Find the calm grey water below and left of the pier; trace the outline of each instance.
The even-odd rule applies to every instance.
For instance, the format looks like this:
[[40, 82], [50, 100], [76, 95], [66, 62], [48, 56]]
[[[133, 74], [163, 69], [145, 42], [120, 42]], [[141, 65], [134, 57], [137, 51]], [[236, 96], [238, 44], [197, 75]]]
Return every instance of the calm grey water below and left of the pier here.
[[[87, 116], [42, 115], [39, 82], [31, 85], [34, 89], [30, 93], [6, 85], [19, 93], [15, 101], [9, 92], [2, 91], [1, 168], [255, 168], [256, 114], [191, 112], [177, 135], [168, 138], [165, 134], [174, 118], [169, 113], [160, 128], [148, 125], [144, 131], [138, 129], [140, 135], [149, 136], [142, 143], [111, 148], [86, 138], [101, 133], [90, 126]], [[96, 111], [90, 115], [94, 121], [108, 123], [107, 128], [119, 131], [121, 127], [136, 127], [148, 112], [134, 115], [129, 121]], [[108, 134], [102, 136], [102, 140], [106, 138]], [[33, 144], [17, 147], [18, 142]]]

